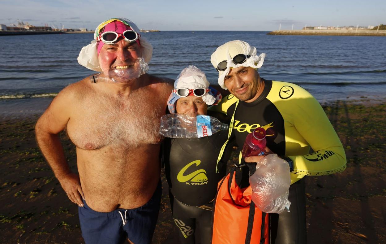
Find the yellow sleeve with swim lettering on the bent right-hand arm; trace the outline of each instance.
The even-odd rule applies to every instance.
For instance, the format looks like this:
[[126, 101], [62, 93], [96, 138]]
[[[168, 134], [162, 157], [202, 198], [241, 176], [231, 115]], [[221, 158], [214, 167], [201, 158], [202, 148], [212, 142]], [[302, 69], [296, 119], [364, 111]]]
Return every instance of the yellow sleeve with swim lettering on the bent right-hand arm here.
[[[279, 87], [282, 86], [283, 84], [279, 84]], [[284, 119], [286, 156], [294, 162], [292, 176], [321, 176], [344, 171], [346, 155], [342, 143], [322, 106], [303, 88], [294, 84], [291, 87], [294, 89], [293, 96], [278, 100], [275, 105]], [[294, 154], [307, 148], [305, 142], [314, 153]]]

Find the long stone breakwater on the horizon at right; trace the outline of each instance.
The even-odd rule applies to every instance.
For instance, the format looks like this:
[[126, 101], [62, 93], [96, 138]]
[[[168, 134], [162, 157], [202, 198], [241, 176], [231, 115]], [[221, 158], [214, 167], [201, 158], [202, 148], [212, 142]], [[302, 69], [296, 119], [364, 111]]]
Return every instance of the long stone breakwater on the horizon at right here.
[[276, 30], [267, 35], [304, 35], [304, 36], [386, 36], [386, 31], [363, 30]]

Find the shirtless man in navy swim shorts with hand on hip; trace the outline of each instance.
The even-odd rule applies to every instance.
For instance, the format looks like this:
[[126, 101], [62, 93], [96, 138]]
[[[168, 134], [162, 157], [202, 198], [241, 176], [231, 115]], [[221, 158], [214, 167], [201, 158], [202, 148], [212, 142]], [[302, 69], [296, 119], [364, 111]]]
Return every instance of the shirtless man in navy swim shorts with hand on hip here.
[[[79, 206], [86, 243], [149, 243], [161, 199], [159, 118], [173, 86], [146, 74], [152, 47], [130, 20], [103, 22], [94, 39], [78, 61], [102, 73], [55, 97], [37, 121], [37, 142]], [[59, 140], [65, 129], [79, 175], [70, 171]]]

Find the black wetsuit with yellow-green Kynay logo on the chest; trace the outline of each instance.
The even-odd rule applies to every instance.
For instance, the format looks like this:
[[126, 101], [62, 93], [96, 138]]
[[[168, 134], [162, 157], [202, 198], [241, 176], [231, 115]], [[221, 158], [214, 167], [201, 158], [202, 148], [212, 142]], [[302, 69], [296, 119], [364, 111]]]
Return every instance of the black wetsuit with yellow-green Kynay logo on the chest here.
[[181, 243], [195, 243], [195, 232], [200, 243], [210, 243], [212, 200], [217, 183], [226, 172], [230, 155], [227, 148], [218, 163], [220, 148], [227, 140], [228, 131], [209, 137], [167, 139], [164, 142], [165, 172], [174, 222], [179, 228]]

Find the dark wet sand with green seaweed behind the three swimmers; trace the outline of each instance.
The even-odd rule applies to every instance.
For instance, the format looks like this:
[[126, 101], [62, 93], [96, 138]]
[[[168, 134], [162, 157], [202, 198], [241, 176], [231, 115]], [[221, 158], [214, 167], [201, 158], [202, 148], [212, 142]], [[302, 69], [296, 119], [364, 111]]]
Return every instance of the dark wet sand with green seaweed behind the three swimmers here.
[[[323, 104], [346, 150], [347, 169], [306, 177], [308, 243], [386, 243], [385, 102], [364, 97]], [[78, 206], [68, 200], [36, 145], [37, 118], [0, 120], [0, 242], [83, 243]], [[76, 172], [75, 148], [65, 133], [61, 138]], [[153, 242], [178, 243], [164, 173], [161, 179]]]

